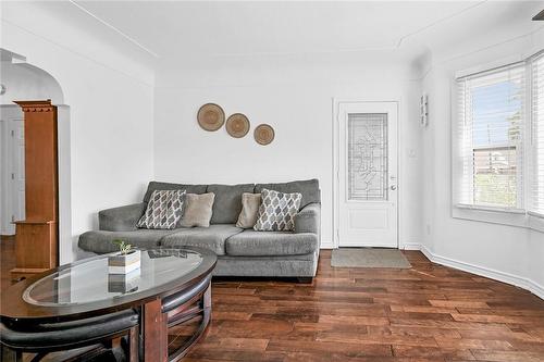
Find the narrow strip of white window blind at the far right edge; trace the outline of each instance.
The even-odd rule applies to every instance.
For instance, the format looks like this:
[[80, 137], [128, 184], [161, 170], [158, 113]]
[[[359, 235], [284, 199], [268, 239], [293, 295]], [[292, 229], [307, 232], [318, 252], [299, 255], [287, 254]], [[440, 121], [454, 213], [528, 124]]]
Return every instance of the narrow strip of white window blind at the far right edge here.
[[530, 211], [544, 215], [544, 53], [532, 59], [532, 177]]

